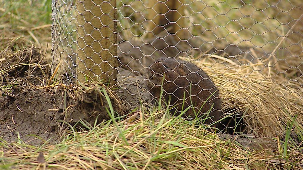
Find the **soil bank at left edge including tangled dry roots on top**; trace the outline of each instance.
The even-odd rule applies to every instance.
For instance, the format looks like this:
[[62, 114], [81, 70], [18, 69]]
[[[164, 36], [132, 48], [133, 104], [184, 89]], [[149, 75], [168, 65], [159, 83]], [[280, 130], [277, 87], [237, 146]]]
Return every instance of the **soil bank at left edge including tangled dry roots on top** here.
[[43, 51], [32, 45], [15, 44], [1, 54], [4, 60], [0, 62], [0, 137], [6, 141], [20, 138], [31, 144], [48, 139], [54, 142], [55, 120], [62, 115], [51, 110], [60, 107], [62, 94], [37, 89], [47, 84], [50, 74]]

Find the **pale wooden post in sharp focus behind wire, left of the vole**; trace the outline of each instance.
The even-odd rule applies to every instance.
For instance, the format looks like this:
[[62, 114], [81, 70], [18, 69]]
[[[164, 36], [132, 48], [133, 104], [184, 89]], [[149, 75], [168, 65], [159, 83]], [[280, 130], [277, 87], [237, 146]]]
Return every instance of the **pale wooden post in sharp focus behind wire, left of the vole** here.
[[117, 80], [116, 0], [78, 0], [77, 79]]

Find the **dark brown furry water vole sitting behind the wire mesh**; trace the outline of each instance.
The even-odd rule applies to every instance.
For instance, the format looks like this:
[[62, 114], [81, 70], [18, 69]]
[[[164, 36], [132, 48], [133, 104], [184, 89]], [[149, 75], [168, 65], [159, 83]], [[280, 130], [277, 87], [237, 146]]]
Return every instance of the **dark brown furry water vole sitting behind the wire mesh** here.
[[[209, 119], [205, 121], [210, 124], [221, 118], [221, 99], [217, 87], [211, 81], [210, 77], [195, 64], [175, 58], [159, 58], [150, 67], [146, 69], [146, 88], [150, 92], [150, 102], [155, 104], [161, 93], [161, 84], [163, 87], [162, 101], [175, 106], [171, 113], [180, 114], [182, 110], [194, 106], [185, 112], [182, 117], [195, 118], [197, 116], [205, 117], [208, 110]], [[184, 95], [185, 94], [185, 95]], [[185, 99], [185, 100], [184, 100]], [[184, 102], [183, 102], [184, 101]], [[206, 103], [205, 103], [206, 101]], [[202, 106], [203, 105], [203, 106]]]

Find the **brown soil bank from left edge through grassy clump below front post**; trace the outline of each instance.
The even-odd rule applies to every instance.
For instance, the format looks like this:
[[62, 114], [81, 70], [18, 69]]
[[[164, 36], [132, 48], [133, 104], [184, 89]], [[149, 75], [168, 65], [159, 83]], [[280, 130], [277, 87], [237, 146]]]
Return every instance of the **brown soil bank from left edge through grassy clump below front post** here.
[[[23, 142], [33, 145], [47, 140], [54, 143], [67, 126], [62, 125], [62, 120], [71, 125], [85, 120], [93, 125], [97, 116], [98, 123], [111, 119], [110, 107], [100, 86], [80, 89], [74, 96], [71, 93], [71, 96], [65, 96], [63, 90], [13, 89], [10, 96], [0, 97], [0, 137], [5, 141], [17, 141], [20, 136]], [[106, 93], [114, 116], [126, 113], [126, 107], [121, 105], [117, 96], [108, 89]]]

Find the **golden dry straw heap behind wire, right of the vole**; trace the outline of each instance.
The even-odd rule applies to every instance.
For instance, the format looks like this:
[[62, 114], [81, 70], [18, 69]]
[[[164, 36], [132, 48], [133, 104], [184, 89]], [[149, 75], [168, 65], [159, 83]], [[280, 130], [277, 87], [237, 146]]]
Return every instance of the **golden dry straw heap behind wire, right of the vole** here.
[[[180, 57], [189, 61], [189, 58]], [[191, 60], [201, 67], [218, 86], [223, 109], [236, 108], [243, 113], [248, 131], [261, 136], [275, 136], [285, 132], [298, 114], [293, 127], [296, 132], [303, 129], [302, 96], [288, 85], [281, 85], [264, 75], [264, 64], [237, 65], [232, 60], [217, 55], [202, 60]], [[270, 67], [267, 67], [269, 69]]]

